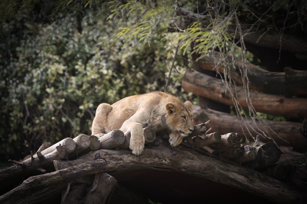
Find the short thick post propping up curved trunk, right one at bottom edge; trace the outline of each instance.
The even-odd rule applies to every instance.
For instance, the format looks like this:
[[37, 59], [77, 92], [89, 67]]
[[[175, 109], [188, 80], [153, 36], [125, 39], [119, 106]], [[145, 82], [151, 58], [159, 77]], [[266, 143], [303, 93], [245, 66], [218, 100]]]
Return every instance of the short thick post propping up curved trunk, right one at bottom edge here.
[[107, 173], [96, 173], [93, 185], [85, 196], [84, 203], [107, 203], [116, 187], [117, 181]]

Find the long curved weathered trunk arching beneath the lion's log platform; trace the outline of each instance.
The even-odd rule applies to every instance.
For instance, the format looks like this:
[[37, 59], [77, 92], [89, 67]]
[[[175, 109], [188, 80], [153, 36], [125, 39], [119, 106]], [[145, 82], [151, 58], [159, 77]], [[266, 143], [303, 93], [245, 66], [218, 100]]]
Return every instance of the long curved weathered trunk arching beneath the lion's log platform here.
[[[176, 151], [176, 153], [174, 153]], [[95, 155], [95, 157], [93, 157]], [[223, 163], [211, 157], [206, 157], [196, 152], [187, 151], [178, 146], [169, 148], [159, 139], [159, 146], [147, 147], [142, 155], [136, 157], [130, 151], [124, 150], [97, 150], [88, 154], [87, 161], [78, 159], [73, 161], [55, 161], [66, 165], [75, 165], [56, 172], [32, 176], [20, 186], [0, 196], [1, 202], [21, 203], [35, 198], [43, 202], [47, 197], [40, 197], [38, 191], [45, 187], [56, 186], [59, 183], [73, 181], [76, 178], [105, 172], [126, 172], [137, 169], [173, 170], [186, 174], [199, 176], [218, 183], [242, 189], [252, 194], [266, 198], [277, 203], [294, 202], [303, 197], [302, 189], [290, 184], [282, 183], [253, 169]], [[32, 193], [31, 193], [32, 192]]]

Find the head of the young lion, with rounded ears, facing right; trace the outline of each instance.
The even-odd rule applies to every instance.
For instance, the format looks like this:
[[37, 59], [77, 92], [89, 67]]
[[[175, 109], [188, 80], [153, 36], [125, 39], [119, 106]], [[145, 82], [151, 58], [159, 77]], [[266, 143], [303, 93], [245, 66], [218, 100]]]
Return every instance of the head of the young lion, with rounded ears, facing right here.
[[165, 105], [165, 109], [167, 123], [172, 131], [178, 130], [181, 136], [185, 137], [194, 130], [192, 123], [193, 106], [190, 101], [185, 101], [183, 104], [169, 102]]

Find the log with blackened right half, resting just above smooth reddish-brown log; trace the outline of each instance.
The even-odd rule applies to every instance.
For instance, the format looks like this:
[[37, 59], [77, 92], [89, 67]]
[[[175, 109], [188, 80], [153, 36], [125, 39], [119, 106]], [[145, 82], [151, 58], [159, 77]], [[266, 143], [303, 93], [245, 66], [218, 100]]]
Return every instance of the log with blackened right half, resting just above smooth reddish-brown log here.
[[241, 59], [231, 55], [227, 55], [221, 61], [229, 65], [227, 69], [224, 69], [224, 66], [217, 65], [219, 59], [221, 59], [220, 52], [212, 51], [207, 55], [202, 54], [196, 63], [204, 70], [226, 73], [239, 86], [243, 85], [242, 75], [246, 75], [249, 89], [263, 93], [285, 96], [307, 94], [307, 71], [285, 67], [284, 72], [269, 72], [250, 62], [242, 62]]

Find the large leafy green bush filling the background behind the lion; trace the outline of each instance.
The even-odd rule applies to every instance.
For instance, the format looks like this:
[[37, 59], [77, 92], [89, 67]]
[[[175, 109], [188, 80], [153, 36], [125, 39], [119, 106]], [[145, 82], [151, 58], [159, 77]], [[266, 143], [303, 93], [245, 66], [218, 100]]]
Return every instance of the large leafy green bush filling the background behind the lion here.
[[[4, 29], [7, 41], [2, 46], [19, 43], [5, 50], [12, 52], [10, 59], [0, 59], [2, 161], [19, 159], [44, 141], [90, 135], [100, 103], [164, 90], [174, 52], [171, 42], [152, 33], [150, 44], [123, 43], [124, 37], [115, 34], [128, 19], [106, 20], [110, 14], [86, 9], [58, 13], [51, 23], [14, 22]], [[23, 32], [10, 36], [17, 25]], [[173, 75], [169, 92], [187, 99], [178, 83], [183, 63], [175, 63], [179, 73]]]

